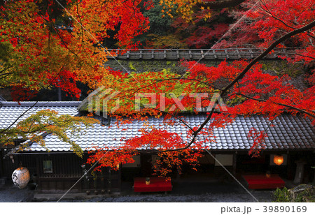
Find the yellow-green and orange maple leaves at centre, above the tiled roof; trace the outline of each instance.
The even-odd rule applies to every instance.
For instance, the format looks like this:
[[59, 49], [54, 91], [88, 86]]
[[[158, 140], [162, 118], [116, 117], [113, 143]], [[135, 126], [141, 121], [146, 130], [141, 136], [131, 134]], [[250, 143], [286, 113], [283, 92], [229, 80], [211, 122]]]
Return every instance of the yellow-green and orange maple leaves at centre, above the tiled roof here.
[[[130, 65], [134, 66], [134, 64]], [[108, 114], [111, 114], [112, 110], [115, 110], [116, 114], [123, 115], [126, 111], [128, 114], [132, 114], [134, 111], [137, 112], [138, 107], [151, 104], [146, 96], [140, 96], [140, 101], [138, 101], [137, 99], [139, 99], [139, 97], [136, 98], [136, 96], [139, 94], [154, 94], [156, 98], [159, 99], [161, 93], [165, 94], [166, 98], [172, 98], [170, 93], [174, 94], [177, 98], [183, 93], [186, 93], [185, 89], [188, 87], [188, 84], [180, 82], [176, 83], [174, 86], [169, 84], [169, 82], [177, 82], [177, 80], [172, 80], [172, 78], [176, 77], [180, 76], [173, 73], [171, 68], [164, 68], [160, 72], [132, 73], [119, 80], [120, 85], [117, 89], [100, 91], [98, 94], [94, 95], [95, 98], [102, 95], [101, 98], [92, 99], [90, 102], [88, 98], [85, 98], [78, 107], [78, 110], [93, 110], [93, 112], [107, 112]], [[165, 81], [161, 82], [160, 80]], [[169, 80], [169, 82], [167, 82], [167, 80]], [[158, 87], [151, 88], [153, 84], [158, 84]], [[115, 94], [114, 92], [119, 93]], [[118, 102], [119, 105], [117, 105]], [[158, 101], [156, 101], [156, 103], [157, 105], [160, 104]], [[118, 107], [118, 109], [116, 109], [116, 107]]]

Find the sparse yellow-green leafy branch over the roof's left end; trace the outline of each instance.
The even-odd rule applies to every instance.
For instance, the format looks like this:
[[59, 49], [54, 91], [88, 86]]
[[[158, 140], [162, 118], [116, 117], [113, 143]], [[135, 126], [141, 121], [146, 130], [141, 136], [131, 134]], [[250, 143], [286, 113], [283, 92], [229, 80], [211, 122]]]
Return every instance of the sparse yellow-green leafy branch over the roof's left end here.
[[78, 136], [85, 127], [93, 126], [97, 119], [90, 117], [72, 117], [69, 114], [58, 115], [53, 110], [40, 110], [35, 114], [19, 121], [16, 126], [0, 130], [0, 142], [3, 146], [14, 144], [15, 140], [29, 140], [20, 145], [18, 150], [28, 147], [31, 142], [37, 142], [46, 150], [43, 137], [46, 134], [55, 135], [59, 140], [70, 144], [70, 149], [78, 156], [83, 156], [83, 150], [71, 140], [69, 135]]

